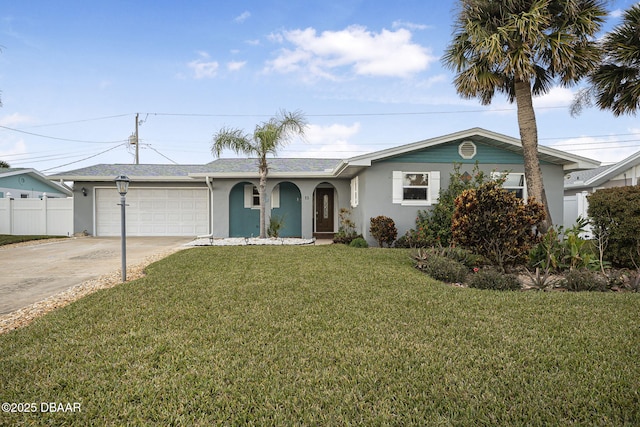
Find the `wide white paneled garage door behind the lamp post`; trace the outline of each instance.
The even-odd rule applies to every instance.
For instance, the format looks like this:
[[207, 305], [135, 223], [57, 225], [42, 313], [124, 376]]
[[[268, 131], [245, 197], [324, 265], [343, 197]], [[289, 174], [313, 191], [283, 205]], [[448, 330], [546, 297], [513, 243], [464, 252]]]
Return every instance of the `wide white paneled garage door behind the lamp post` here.
[[[209, 232], [208, 190], [130, 188], [127, 236], [198, 236]], [[96, 190], [96, 235], [120, 236], [120, 194]]]

